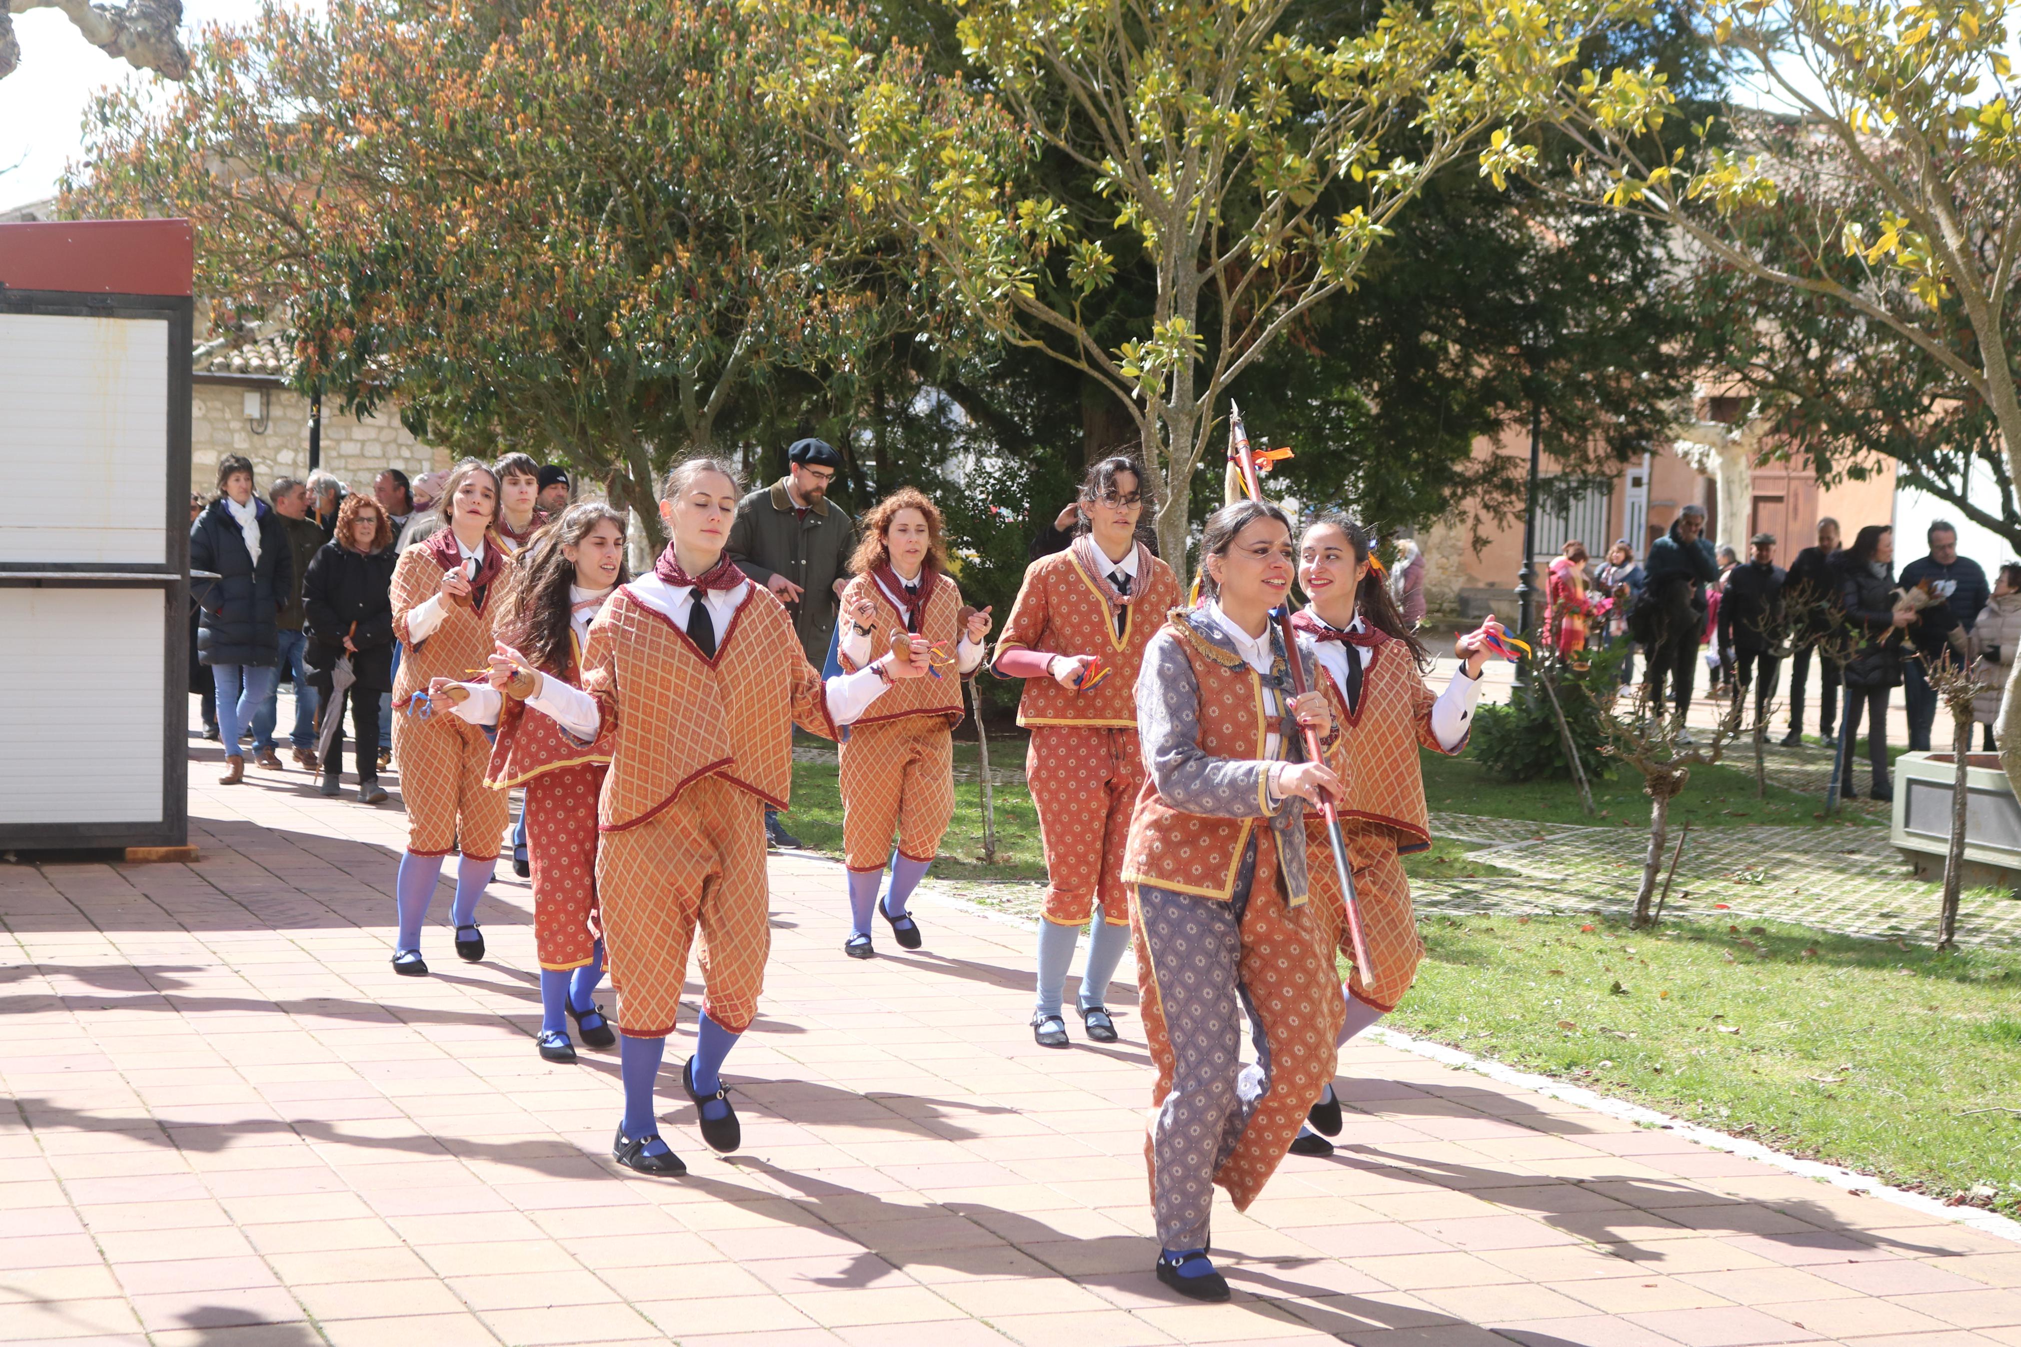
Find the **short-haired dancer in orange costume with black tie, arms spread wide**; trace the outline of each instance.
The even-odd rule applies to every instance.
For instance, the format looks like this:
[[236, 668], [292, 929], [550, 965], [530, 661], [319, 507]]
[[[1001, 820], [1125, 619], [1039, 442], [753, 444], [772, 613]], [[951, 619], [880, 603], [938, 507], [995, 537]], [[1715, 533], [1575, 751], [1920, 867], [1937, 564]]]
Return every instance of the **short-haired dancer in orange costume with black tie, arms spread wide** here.
[[926, 672], [924, 654], [885, 656], [823, 683], [786, 610], [724, 555], [738, 497], [736, 469], [719, 458], [673, 469], [659, 507], [673, 541], [651, 576], [618, 586], [596, 614], [580, 689], [538, 675], [517, 650], [501, 646], [491, 658], [491, 681], [507, 697], [523, 691], [525, 705], [578, 745], [610, 743], [596, 804], [596, 899], [624, 1078], [610, 1153], [641, 1173], [687, 1173], [659, 1137], [653, 1084], [697, 931], [701, 1022], [681, 1080], [703, 1141], [717, 1151], [740, 1145], [719, 1068], [764, 990], [764, 808], [782, 810], [792, 794], [794, 723], [833, 739], [893, 681]]

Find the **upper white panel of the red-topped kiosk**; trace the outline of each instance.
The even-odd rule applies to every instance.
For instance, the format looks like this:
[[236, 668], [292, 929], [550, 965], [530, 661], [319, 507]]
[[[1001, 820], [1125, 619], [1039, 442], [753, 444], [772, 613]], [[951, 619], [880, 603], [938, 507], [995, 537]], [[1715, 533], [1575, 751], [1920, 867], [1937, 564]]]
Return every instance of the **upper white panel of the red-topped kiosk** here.
[[[168, 329], [0, 313], [0, 469], [34, 483], [0, 491], [0, 563], [162, 563]], [[148, 628], [160, 638], [160, 614]]]

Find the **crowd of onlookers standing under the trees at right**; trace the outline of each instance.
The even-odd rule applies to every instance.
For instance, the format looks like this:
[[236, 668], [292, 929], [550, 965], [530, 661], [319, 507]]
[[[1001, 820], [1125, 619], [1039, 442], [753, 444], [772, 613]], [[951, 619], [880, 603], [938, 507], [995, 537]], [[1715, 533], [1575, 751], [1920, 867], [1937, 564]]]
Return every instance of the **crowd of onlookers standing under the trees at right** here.
[[[1972, 719], [1985, 725], [1985, 747], [1993, 747], [2001, 691], [2021, 642], [2021, 561], [2001, 565], [1989, 586], [1985, 569], [1958, 555], [1958, 531], [1946, 521], [1930, 525], [1928, 553], [1900, 574], [1890, 525], [1865, 525], [1843, 545], [1839, 523], [1819, 519], [1817, 543], [1787, 569], [1776, 565], [1772, 533], [1750, 537], [1746, 557], [1732, 545], [1714, 547], [1704, 533], [1706, 511], [1686, 505], [1643, 559], [1627, 539], [1617, 539], [1597, 565], [1584, 543], [1566, 543], [1546, 582], [1548, 646], [1574, 662], [1584, 662], [1593, 646], [1627, 646], [1625, 687], [1641, 654], [1649, 707], [1659, 715], [1671, 709], [1679, 733], [1700, 670], [1714, 697], [1738, 701], [1752, 693], [1754, 721], [1766, 723], [1789, 660], [1785, 745], [1803, 741], [1815, 666], [1817, 733], [1837, 745], [1867, 725], [1873, 800], [1892, 798], [1890, 693], [1902, 689], [1910, 749], [1928, 749], [1940, 701], [1930, 670], [1946, 660], [1970, 666], [1987, 689], [1975, 699]], [[1839, 763], [1841, 794], [1851, 796], [1853, 753], [1841, 753]]]

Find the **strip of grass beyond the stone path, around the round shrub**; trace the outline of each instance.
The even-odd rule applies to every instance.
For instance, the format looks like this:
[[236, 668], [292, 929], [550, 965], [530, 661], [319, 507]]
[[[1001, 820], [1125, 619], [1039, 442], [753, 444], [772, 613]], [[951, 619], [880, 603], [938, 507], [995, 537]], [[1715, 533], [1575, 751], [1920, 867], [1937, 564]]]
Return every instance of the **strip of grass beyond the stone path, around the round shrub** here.
[[[1522, 818], [1540, 824], [1621, 824], [1627, 828], [1649, 826], [1649, 796], [1643, 794], [1641, 775], [1617, 767], [1607, 780], [1593, 784], [1593, 804], [1597, 816], [1586, 816], [1578, 808], [1578, 792], [1572, 782], [1520, 782], [1510, 784], [1489, 773], [1471, 755], [1445, 757], [1443, 753], [1419, 753], [1425, 767], [1425, 802], [1435, 814], [1487, 814], [1491, 818]], [[1861, 759], [1863, 761], [1863, 759]], [[1760, 800], [1754, 798], [1754, 767], [1694, 767], [1692, 780], [1669, 806], [1669, 826], [1681, 828], [1686, 820], [1694, 828], [1728, 828], [1736, 824], [1778, 824], [1787, 828], [1839, 828], [1871, 826], [1869, 820], [1847, 814], [1845, 818], [1819, 818], [1823, 800], [1805, 796], [1781, 786], [1770, 786]]]

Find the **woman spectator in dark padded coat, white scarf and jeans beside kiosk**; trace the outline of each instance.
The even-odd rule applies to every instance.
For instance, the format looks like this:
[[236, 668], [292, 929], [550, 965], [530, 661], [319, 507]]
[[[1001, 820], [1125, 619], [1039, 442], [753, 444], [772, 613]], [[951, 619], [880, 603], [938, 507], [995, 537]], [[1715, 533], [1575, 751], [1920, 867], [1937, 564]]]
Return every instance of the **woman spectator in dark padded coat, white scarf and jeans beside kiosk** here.
[[218, 499], [190, 525], [190, 569], [218, 574], [202, 598], [196, 650], [218, 685], [218, 784], [236, 786], [247, 773], [238, 735], [273, 687], [277, 622], [295, 592], [287, 529], [253, 495], [253, 464], [238, 454], [218, 462]]

